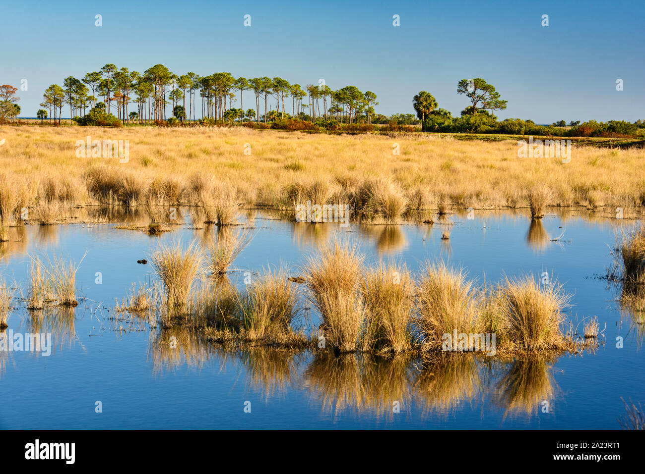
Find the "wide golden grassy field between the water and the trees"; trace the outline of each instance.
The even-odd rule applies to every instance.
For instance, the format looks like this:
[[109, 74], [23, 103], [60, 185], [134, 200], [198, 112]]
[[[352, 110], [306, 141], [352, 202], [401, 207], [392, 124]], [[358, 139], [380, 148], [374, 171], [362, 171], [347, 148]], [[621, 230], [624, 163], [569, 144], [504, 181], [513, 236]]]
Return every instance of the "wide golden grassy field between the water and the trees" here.
[[[315, 197], [323, 200], [356, 200], [366, 180], [379, 183], [386, 197], [396, 196], [398, 211], [528, 207], [534, 189], [541, 190], [548, 206], [622, 207], [627, 216], [640, 214], [645, 204], [642, 148], [574, 143], [571, 161], [562, 163], [561, 158], [519, 158], [517, 140], [412, 133], [1, 126], [0, 137], [5, 139], [0, 146], [2, 173], [7, 176], [3, 185], [22, 182], [22, 199], [30, 209], [47, 193], [61, 200], [64, 196], [74, 205], [108, 198], [88, 192], [87, 172], [99, 164], [104, 166], [95, 173], [113, 172], [115, 180], [129, 180], [128, 197], [121, 200], [128, 205], [143, 204], [141, 196], [164, 180], [174, 182], [176, 199], [188, 204], [199, 194], [190, 186], [195, 173], [201, 173], [211, 194], [232, 194], [240, 204], [284, 208], [293, 201], [294, 184], [302, 191], [317, 183], [324, 189]], [[87, 137], [127, 140], [128, 162], [78, 158], [76, 142]], [[115, 183], [108, 194], [123, 187]]]

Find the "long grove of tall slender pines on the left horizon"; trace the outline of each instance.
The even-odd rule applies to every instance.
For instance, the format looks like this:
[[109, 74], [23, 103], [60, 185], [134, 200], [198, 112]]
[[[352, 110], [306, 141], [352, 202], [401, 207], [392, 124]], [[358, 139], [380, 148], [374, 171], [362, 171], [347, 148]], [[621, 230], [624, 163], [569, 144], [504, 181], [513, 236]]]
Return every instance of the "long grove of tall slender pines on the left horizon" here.
[[[255, 108], [246, 111], [245, 91], [255, 97]], [[292, 102], [290, 114], [288, 99]], [[105, 104], [106, 115], [122, 121], [167, 120], [170, 106], [172, 117], [178, 120], [255, 119], [265, 124], [277, 116], [311, 122], [320, 117], [333, 117], [347, 124], [370, 123], [375, 116], [374, 106], [378, 104], [375, 93], [362, 92], [356, 86], [335, 91], [326, 84], [307, 84], [303, 89], [300, 84], [290, 84], [281, 77], [235, 78], [228, 72], [177, 75], [163, 64], [139, 73], [105, 64], [101, 70], [87, 73], [82, 79], [67, 77], [63, 87], [52, 84], [45, 91], [41, 106], [48, 110], [49, 117], [58, 117], [60, 121], [65, 105], [69, 106], [70, 117], [79, 117], [99, 102]], [[235, 107], [237, 102], [239, 108]], [[132, 106], [135, 111], [131, 111]]]

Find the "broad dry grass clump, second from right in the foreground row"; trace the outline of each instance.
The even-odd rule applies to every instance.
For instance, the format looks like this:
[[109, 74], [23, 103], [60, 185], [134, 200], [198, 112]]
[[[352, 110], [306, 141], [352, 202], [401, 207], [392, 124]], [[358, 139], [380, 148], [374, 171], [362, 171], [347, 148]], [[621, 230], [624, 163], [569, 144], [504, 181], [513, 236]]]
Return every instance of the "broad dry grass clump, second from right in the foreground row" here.
[[417, 283], [415, 322], [421, 350], [441, 350], [444, 334], [479, 334], [482, 331], [481, 299], [463, 270], [445, 263], [427, 263]]

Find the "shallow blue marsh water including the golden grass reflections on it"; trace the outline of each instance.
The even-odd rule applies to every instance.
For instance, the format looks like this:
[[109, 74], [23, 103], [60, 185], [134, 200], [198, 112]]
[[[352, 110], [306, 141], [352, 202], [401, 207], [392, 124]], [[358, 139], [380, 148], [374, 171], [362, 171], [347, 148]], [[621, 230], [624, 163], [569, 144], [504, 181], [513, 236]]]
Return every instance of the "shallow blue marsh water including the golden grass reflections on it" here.
[[[252, 217], [255, 236], [229, 276], [236, 285], [244, 272], [268, 265], [288, 265], [297, 276], [305, 256], [341, 233], [368, 263], [392, 258], [413, 272], [425, 260], [444, 260], [483, 284], [546, 271], [573, 293], [572, 319], [598, 316], [604, 344], [550, 361], [464, 356], [439, 366], [413, 357], [231, 350], [137, 318], [115, 320], [110, 311], [133, 282], [154, 278], [137, 260], [149, 260], [160, 242], [202, 242], [212, 229], [184, 225], [149, 236], [115, 223], [27, 225], [12, 229], [20, 242], [0, 248], [5, 280], [25, 287], [30, 256], [71, 258], [81, 262], [83, 298], [74, 309], [30, 314], [18, 307], [10, 317], [8, 330], [49, 332], [55, 347], [49, 356], [0, 352], [0, 428], [619, 428], [621, 397], [643, 401], [642, 324], [620, 311], [617, 290], [597, 278], [613, 261], [615, 232], [633, 222], [570, 213], [531, 224], [525, 213], [477, 211], [473, 220], [451, 216], [450, 226], [343, 229], [250, 214], [241, 218]], [[450, 240], [441, 240], [448, 227]], [[178, 350], [168, 348], [171, 336]]]

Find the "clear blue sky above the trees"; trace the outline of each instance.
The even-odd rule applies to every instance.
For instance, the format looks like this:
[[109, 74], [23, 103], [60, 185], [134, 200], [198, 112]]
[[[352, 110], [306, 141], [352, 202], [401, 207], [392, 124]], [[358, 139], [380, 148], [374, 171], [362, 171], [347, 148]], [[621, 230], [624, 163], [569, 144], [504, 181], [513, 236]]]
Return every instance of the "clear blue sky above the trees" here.
[[[112, 62], [136, 71], [161, 63], [177, 74], [280, 76], [301, 86], [322, 78], [333, 89], [375, 92], [386, 115], [413, 113], [420, 90], [459, 115], [468, 101], [457, 82], [482, 77], [508, 100], [500, 119], [645, 119], [642, 0], [62, 0], [10, 1], [3, 10], [0, 43], [9, 47], [0, 83], [28, 80], [18, 93], [24, 117], [35, 115], [50, 84]], [[541, 26], [543, 14], [549, 26]], [[252, 104], [245, 93], [244, 108]]]

